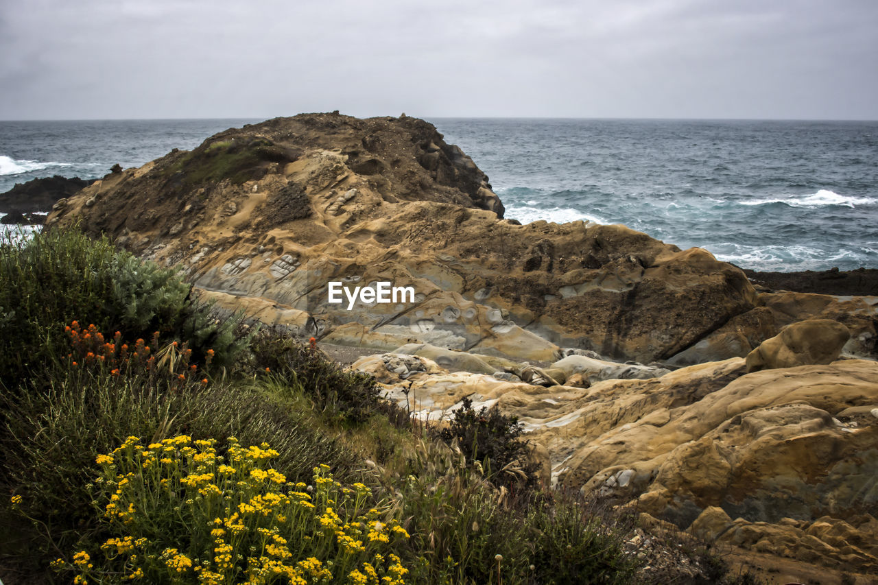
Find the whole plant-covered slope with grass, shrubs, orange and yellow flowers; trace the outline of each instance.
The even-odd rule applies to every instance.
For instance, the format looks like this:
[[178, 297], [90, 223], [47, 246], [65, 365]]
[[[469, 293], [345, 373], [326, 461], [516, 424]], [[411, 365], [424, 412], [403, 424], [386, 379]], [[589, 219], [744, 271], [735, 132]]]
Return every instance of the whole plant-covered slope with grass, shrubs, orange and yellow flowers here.
[[0, 245], [0, 282], [0, 343], [16, 352], [0, 386], [7, 585], [623, 583], [637, 571], [624, 526], [492, 475], [521, 454], [499, 413], [462, 413], [466, 448], [446, 444], [313, 343], [235, 336], [234, 318], [208, 319], [173, 271], [74, 231]]

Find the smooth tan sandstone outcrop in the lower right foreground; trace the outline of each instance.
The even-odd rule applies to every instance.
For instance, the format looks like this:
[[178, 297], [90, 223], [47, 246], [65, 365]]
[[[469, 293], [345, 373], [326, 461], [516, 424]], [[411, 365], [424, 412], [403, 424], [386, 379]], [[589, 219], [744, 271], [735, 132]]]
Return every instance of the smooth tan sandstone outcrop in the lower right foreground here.
[[722, 543], [878, 569], [873, 361], [747, 373], [743, 358], [731, 358], [583, 389], [450, 372], [421, 357], [392, 371], [388, 356], [399, 354], [354, 367], [424, 420], [448, 417], [464, 397], [517, 415], [549, 459], [553, 485]]

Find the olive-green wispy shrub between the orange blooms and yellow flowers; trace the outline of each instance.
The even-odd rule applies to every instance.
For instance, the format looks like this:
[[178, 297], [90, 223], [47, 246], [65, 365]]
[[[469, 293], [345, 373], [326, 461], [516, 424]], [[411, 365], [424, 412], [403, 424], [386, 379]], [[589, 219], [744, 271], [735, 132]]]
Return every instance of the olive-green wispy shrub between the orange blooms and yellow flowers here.
[[158, 441], [184, 433], [268, 442], [279, 453], [276, 465], [291, 480], [307, 479], [320, 463], [333, 465], [342, 477], [354, 465], [335, 440], [314, 432], [306, 413], [266, 401], [255, 383], [205, 385], [193, 376], [181, 384], [178, 374], [162, 380], [147, 372], [114, 374], [103, 364], [59, 365], [46, 386], [0, 395], [0, 411], [6, 419], [0, 430], [0, 490], [22, 496], [20, 509], [33, 521], [6, 535], [18, 539], [8, 548], [27, 550], [25, 558], [41, 567], [58, 549], [98, 529], [84, 486], [97, 473], [97, 453], [126, 437]]

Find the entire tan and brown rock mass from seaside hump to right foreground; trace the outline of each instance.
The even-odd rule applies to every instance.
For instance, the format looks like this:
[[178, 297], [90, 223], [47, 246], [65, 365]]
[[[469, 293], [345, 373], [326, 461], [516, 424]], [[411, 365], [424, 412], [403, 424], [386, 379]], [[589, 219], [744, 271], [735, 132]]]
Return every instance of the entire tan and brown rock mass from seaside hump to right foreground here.
[[[434, 126], [333, 113], [114, 172], [47, 223], [180, 265], [270, 325], [374, 348], [355, 367], [421, 418], [464, 397], [519, 416], [553, 485], [878, 570], [878, 298], [758, 291], [702, 249], [503, 212]], [[330, 281], [414, 298], [331, 303]]]

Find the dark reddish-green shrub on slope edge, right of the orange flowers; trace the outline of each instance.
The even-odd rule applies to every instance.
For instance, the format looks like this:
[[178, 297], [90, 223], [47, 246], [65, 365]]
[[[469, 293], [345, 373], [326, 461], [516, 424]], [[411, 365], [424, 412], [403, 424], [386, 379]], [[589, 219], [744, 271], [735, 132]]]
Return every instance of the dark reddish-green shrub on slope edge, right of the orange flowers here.
[[268, 368], [301, 386], [324, 413], [348, 423], [363, 423], [382, 408], [380, 390], [371, 376], [342, 370], [316, 345], [299, 343], [276, 331], [261, 331], [250, 345], [256, 367]]

